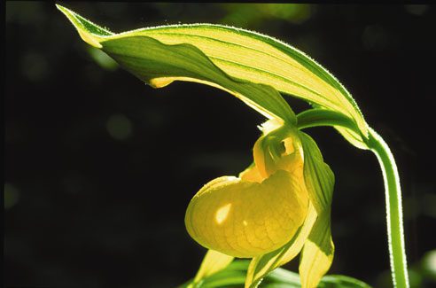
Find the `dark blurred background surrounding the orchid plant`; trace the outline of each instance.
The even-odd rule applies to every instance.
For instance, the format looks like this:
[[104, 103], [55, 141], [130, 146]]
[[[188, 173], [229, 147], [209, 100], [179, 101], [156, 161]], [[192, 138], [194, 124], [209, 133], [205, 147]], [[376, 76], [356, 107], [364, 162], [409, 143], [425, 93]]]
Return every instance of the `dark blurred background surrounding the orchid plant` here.
[[[410, 280], [436, 284], [434, 6], [65, 5], [114, 32], [227, 24], [315, 58], [393, 150]], [[185, 209], [204, 183], [252, 162], [264, 119], [200, 84], [153, 90], [83, 43], [54, 4], [6, 2], [5, 17], [6, 286], [175, 287], [194, 276], [206, 249], [185, 231]], [[297, 113], [308, 108], [286, 99]], [[376, 157], [332, 128], [307, 132], [336, 175], [329, 273], [390, 287]]]

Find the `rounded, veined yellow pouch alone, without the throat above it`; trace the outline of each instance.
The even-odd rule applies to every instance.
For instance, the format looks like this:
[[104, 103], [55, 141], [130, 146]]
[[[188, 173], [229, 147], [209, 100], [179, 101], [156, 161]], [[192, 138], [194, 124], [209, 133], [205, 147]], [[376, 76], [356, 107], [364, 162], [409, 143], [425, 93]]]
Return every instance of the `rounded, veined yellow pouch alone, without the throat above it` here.
[[220, 177], [191, 199], [185, 215], [188, 233], [200, 245], [240, 258], [252, 258], [288, 243], [304, 222], [307, 193], [299, 179], [278, 170], [261, 183]]

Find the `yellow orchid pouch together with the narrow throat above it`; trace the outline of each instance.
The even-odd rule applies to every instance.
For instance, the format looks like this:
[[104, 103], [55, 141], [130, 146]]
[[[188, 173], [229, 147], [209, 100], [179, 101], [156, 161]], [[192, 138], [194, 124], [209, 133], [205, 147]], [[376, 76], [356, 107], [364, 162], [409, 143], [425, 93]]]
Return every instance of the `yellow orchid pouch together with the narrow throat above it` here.
[[238, 178], [206, 183], [186, 211], [191, 237], [209, 249], [242, 258], [288, 243], [308, 213], [296, 136], [284, 126], [269, 130], [254, 144], [254, 164]]

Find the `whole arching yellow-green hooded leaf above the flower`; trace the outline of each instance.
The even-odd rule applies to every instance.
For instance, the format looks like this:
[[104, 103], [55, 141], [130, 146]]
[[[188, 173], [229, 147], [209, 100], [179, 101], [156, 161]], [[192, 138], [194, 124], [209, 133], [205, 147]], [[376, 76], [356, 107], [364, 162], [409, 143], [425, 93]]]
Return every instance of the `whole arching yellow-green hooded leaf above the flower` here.
[[[360, 133], [338, 127], [339, 132], [352, 144], [366, 148], [368, 127], [353, 97], [323, 66], [286, 43], [252, 31], [212, 24], [147, 27], [113, 34], [65, 7], [58, 5], [58, 9], [71, 20], [85, 42], [101, 48], [152, 85], [162, 87], [175, 80], [212, 84], [230, 90], [269, 118], [293, 121], [284, 100], [267, 88], [273, 87], [315, 107], [343, 113], [355, 122]], [[149, 51], [152, 55], [148, 55]], [[177, 63], [172, 65], [175, 59]], [[262, 85], [257, 90], [245, 87], [237, 91], [237, 80]], [[227, 87], [228, 84], [233, 85]]]

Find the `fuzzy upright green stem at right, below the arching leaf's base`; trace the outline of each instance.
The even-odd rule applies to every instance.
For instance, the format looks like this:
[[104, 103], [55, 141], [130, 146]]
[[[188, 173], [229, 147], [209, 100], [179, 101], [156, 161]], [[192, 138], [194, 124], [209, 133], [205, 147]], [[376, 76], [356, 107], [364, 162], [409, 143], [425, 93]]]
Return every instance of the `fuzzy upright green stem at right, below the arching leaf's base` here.
[[367, 143], [382, 168], [385, 180], [386, 222], [393, 285], [409, 287], [409, 277], [402, 224], [400, 176], [389, 147], [372, 128]]

